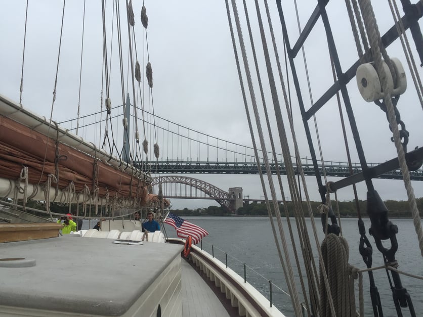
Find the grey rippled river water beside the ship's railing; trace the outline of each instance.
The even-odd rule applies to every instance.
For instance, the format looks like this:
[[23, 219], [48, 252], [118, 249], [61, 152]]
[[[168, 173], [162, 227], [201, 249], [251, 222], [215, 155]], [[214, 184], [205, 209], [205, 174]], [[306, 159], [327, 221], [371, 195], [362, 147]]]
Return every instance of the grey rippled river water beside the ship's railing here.
[[[267, 217], [184, 217], [208, 231], [209, 235], [203, 239], [202, 247], [204, 250], [214, 254], [225, 263], [225, 252], [228, 254], [228, 265], [239, 275], [243, 276], [243, 263], [246, 263], [246, 278], [249, 283], [261, 291], [269, 298], [269, 282], [271, 280], [277, 287], [287, 292], [287, 287], [277, 255], [275, 242], [272, 234], [269, 218]], [[311, 221], [307, 219], [309, 235], [312, 237]], [[398, 225], [399, 233], [398, 251], [396, 259], [398, 260], [398, 269], [418, 276], [423, 276], [423, 260], [418, 248], [417, 235], [414, 230], [412, 219], [392, 219], [393, 223]], [[364, 219], [366, 231], [370, 227], [370, 220]], [[276, 222], [275, 222], [276, 224]], [[286, 220], [283, 220], [286, 235]], [[324, 235], [321, 230], [321, 223], [318, 222], [317, 230], [320, 242]], [[358, 251], [359, 234], [356, 218], [343, 218], [343, 235], [347, 239], [350, 248], [349, 263], [365, 268], [365, 264]], [[296, 227], [293, 225], [293, 227]], [[176, 237], [173, 227], [165, 225], [165, 230], [169, 237]], [[294, 235], [296, 236], [296, 234]], [[373, 247], [373, 266], [383, 264], [383, 258], [374, 245], [373, 237], [367, 235]], [[288, 239], [289, 240], [289, 239]], [[299, 247], [300, 243], [296, 243]], [[314, 240], [312, 245], [315, 246]], [[198, 244], [200, 246], [200, 244]], [[389, 247], [386, 245], [386, 247]], [[317, 257], [317, 252], [313, 253]], [[318, 262], [316, 262], [318, 263]], [[294, 265], [294, 257], [291, 257], [291, 264]], [[304, 270], [303, 270], [304, 272]], [[298, 272], [294, 269], [294, 274], [298, 278]], [[392, 292], [385, 270], [374, 271], [375, 283], [378, 288], [382, 301], [384, 316], [397, 316]], [[423, 316], [423, 281], [401, 275], [403, 286], [411, 296], [416, 315]], [[358, 283], [357, 283], [358, 284]], [[364, 307], [365, 315], [372, 316], [371, 300], [369, 296], [369, 282], [367, 273], [363, 274], [364, 284]], [[288, 316], [293, 315], [291, 301], [287, 295], [280, 291], [275, 285], [272, 286], [273, 304]], [[297, 290], [301, 292], [300, 283]], [[358, 296], [358, 295], [357, 295]], [[358, 307], [358, 300], [356, 301]], [[408, 308], [403, 308], [403, 315], [409, 316]]]

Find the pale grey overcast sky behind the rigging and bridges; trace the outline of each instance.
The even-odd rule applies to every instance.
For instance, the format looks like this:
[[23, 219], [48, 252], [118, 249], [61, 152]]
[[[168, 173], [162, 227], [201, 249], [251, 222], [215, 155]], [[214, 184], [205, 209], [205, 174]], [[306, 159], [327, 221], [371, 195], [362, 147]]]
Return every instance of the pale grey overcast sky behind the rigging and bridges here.
[[[253, 33], [258, 34], [257, 17], [253, 13], [255, 10], [251, 1], [248, 10], [251, 13], [250, 19]], [[300, 22], [304, 26], [307, 17], [314, 9], [310, 1], [299, 3]], [[0, 40], [2, 50], [0, 50], [0, 94], [19, 102], [19, 86], [22, 71], [22, 52], [25, 25], [26, 1], [4, 1], [0, 0], [2, 11], [0, 12]], [[389, 7], [377, 2], [376, 19], [379, 30], [384, 33], [393, 20]], [[53, 89], [55, 85], [55, 75], [58, 59], [58, 47], [60, 36], [60, 24], [62, 17], [62, 2], [58, 1], [37, 1], [29, 2], [23, 99], [25, 108], [31, 111], [50, 117], [53, 101]], [[122, 93], [120, 85], [118, 66], [118, 51], [116, 29], [113, 29], [112, 38], [112, 2], [107, 2], [107, 22], [106, 34], [108, 38], [108, 58], [111, 61], [110, 91], [113, 105], [122, 103]], [[134, 2], [134, 12], [136, 20], [136, 45], [137, 56], [140, 61], [141, 72], [145, 73], [143, 65], [147, 61], [147, 53], [144, 49], [145, 37], [140, 23], [140, 10], [142, 3]], [[154, 104], [154, 112], [160, 117], [187, 126], [193, 130], [200, 131], [213, 137], [221, 138], [238, 144], [251, 146], [251, 138], [248, 130], [244, 105], [241, 96], [241, 89], [238, 80], [232, 42], [229, 32], [225, 2], [213, 1], [145, 1], [148, 25], [148, 49], [149, 59], [153, 67], [153, 99], [148, 94], [148, 89], [141, 92], [146, 110], [151, 111]], [[272, 12], [272, 22], [281, 63], [283, 64], [283, 44], [281, 27], [278, 22], [277, 9], [273, 1], [269, 3]], [[290, 32], [291, 44], [298, 36], [298, 26], [295, 11], [292, 4], [283, 4], [286, 10], [288, 30]], [[351, 27], [345, 15], [344, 2], [331, 2], [328, 5], [329, 19], [333, 23], [333, 33], [339, 50], [339, 55], [343, 69], [346, 70], [357, 60]], [[124, 2], [121, 2], [121, 11], [124, 12]], [[242, 12], [242, 2], [238, 3], [238, 11]], [[262, 11], [264, 14], [264, 11]], [[245, 21], [242, 18], [242, 21]], [[115, 22], [115, 18], [113, 18]], [[102, 89], [102, 59], [103, 59], [103, 28], [101, 20], [100, 2], [87, 2], [86, 19], [84, 24], [84, 42], [82, 53], [82, 73], [81, 73], [81, 93], [79, 97], [79, 71], [81, 67], [81, 35], [83, 23], [83, 1], [68, 1], [65, 7], [63, 38], [60, 52], [59, 75], [56, 90], [56, 102], [53, 108], [53, 119], [64, 121], [77, 117], [78, 100], [80, 114], [90, 114], [100, 110], [100, 97]], [[122, 15], [122, 46], [123, 46], [123, 68], [125, 80], [125, 92], [131, 93], [132, 86], [127, 86], [126, 70], [128, 69], [128, 35], [126, 19]], [[245, 22], [242, 22], [244, 38], [247, 37]], [[320, 29], [316, 29], [306, 42], [306, 59], [310, 76], [311, 92], [313, 101], [318, 98], [333, 82], [330, 62], [327, 56], [327, 46], [324, 33], [321, 29], [321, 22], [318, 22]], [[268, 28], [266, 28], [267, 30]], [[268, 33], [267, 33], [268, 34]], [[407, 33], [409, 38], [411, 36]], [[262, 52], [261, 41], [255, 38], [256, 48]], [[411, 43], [414, 52], [414, 44]], [[407, 69], [406, 61], [401, 47], [397, 43], [388, 49], [391, 57], [398, 57], [408, 74], [408, 89], [401, 96], [398, 107], [401, 119], [404, 121], [407, 130], [410, 132], [408, 148], [421, 146], [421, 136], [423, 135], [423, 114], [411, 77]], [[249, 63], [253, 69], [250, 50]], [[260, 53], [259, 61], [263, 62], [263, 53]], [[273, 56], [273, 54], [272, 54]], [[417, 54], [414, 52], [414, 56]], [[274, 62], [273, 62], [274, 63]], [[416, 61], [419, 65], [420, 62]], [[298, 67], [302, 94], [306, 103], [306, 108], [310, 107], [310, 96], [305, 76], [303, 57], [299, 54], [295, 65]], [[282, 65], [283, 66], [283, 65]], [[276, 64], [273, 64], [276, 70]], [[283, 66], [284, 68], [284, 66]], [[261, 64], [261, 75], [265, 85], [266, 102], [268, 108], [272, 108], [269, 94], [269, 84], [265, 74], [265, 66]], [[284, 71], [285, 72], [285, 71]], [[421, 74], [421, 69], [419, 68]], [[276, 73], [275, 73], [276, 74]], [[255, 76], [255, 71], [252, 71]], [[245, 79], [244, 79], [245, 80]], [[285, 83], [286, 83], [285, 78]], [[143, 80], [144, 82], [145, 80]], [[255, 95], [259, 101], [259, 90], [257, 80], [255, 82]], [[289, 77], [292, 95], [293, 117], [300, 153], [303, 158], [310, 157], [308, 145], [305, 139], [304, 127], [298, 110], [298, 102], [292, 85], [292, 78]], [[143, 87], [143, 86], [142, 86]], [[355, 118], [360, 131], [363, 149], [368, 162], [383, 162], [396, 155], [394, 144], [390, 141], [390, 131], [385, 113], [373, 103], [363, 101], [358, 93], [355, 79], [349, 83], [350, 97], [355, 111]], [[280, 83], [278, 86], [281, 107], [284, 109], [282, 94], [280, 93]], [[140, 93], [140, 94], [141, 94]], [[136, 92], [139, 96], [139, 92]], [[105, 91], [104, 91], [105, 95]], [[152, 101], [154, 103], [152, 103]], [[250, 101], [249, 101], [250, 102]], [[138, 98], [137, 104], [141, 104]], [[263, 116], [262, 116], [263, 117]], [[344, 111], [344, 117], [346, 114]], [[286, 119], [286, 116], [284, 117]], [[272, 120], [273, 127], [274, 120]], [[345, 146], [340, 129], [339, 112], [336, 101], [331, 100], [316, 116], [319, 127], [320, 141], [322, 143], [322, 156], [324, 160], [334, 160], [346, 162]], [[312, 133], [315, 135], [313, 120], [309, 121]], [[264, 126], [264, 123], [262, 123]], [[288, 124], [285, 123], [287, 127]], [[348, 125], [349, 127], [349, 125]], [[353, 139], [348, 130], [350, 147], [354, 147]], [[117, 127], [116, 127], [117, 129]], [[83, 135], [89, 141], [98, 143], [100, 131], [85, 132]], [[118, 132], [116, 132], [118, 133]], [[148, 132], [151, 138], [150, 144], [157, 142], [161, 146], [161, 151], [166, 149], [167, 144], [154, 140], [153, 133]], [[117, 134], [119, 135], [119, 134]], [[90, 140], [90, 139], [93, 140]], [[256, 135], [257, 138], [257, 135]], [[165, 137], [162, 137], [164, 141]], [[317, 149], [317, 139], [314, 137]], [[291, 141], [290, 141], [291, 142]], [[292, 144], [292, 142], [291, 142]], [[267, 144], [268, 150], [270, 145]], [[280, 146], [279, 146], [280, 147]], [[205, 150], [204, 150], [205, 151]], [[291, 147], [293, 153], [293, 148]], [[185, 152], [184, 152], [185, 153]], [[279, 152], [280, 153], [280, 152]], [[170, 155], [170, 154], [167, 154]], [[203, 157], [206, 155], [201, 154]], [[182, 156], [182, 155], [181, 155]], [[211, 156], [211, 155], [210, 155]], [[318, 154], [320, 157], [320, 154]], [[195, 155], [192, 155], [195, 157]], [[356, 151], [352, 151], [352, 160], [358, 162]], [[223, 190], [230, 187], [242, 187], [244, 195], [250, 198], [260, 198], [263, 195], [260, 179], [258, 175], [189, 175], [211, 183]], [[329, 179], [329, 180], [336, 180]], [[315, 177], [307, 177], [308, 189], [311, 199], [319, 200]], [[386, 181], [374, 180], [375, 189], [382, 199], [405, 200], [406, 194], [401, 180]], [[419, 182], [413, 182], [416, 197], [422, 196], [423, 186]], [[358, 186], [359, 199], [366, 199], [366, 189], [364, 184]], [[352, 200], [351, 188], [339, 191], [339, 199]], [[174, 208], [183, 207], [205, 207], [217, 203], [210, 200], [175, 200]]]

